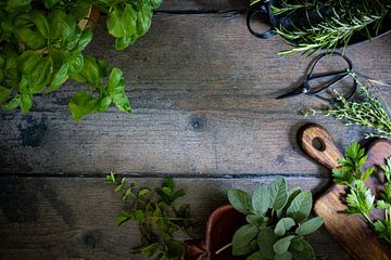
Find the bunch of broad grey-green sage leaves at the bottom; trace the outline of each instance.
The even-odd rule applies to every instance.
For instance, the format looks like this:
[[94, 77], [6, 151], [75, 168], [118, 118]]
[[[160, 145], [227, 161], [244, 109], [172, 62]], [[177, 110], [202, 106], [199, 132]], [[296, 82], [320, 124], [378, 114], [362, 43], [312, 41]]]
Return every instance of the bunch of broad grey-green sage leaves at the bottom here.
[[314, 259], [314, 250], [304, 236], [320, 227], [324, 219], [307, 220], [313, 206], [310, 191], [288, 192], [286, 180], [278, 179], [261, 185], [252, 197], [231, 188], [228, 199], [248, 222], [234, 235], [235, 256], [250, 255], [248, 260]]

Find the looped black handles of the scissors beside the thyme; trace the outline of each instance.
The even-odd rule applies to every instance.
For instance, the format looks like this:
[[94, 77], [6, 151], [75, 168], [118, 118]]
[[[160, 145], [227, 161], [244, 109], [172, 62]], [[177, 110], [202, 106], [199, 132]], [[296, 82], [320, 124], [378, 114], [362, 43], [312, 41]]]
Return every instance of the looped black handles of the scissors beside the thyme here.
[[[348, 63], [348, 67], [345, 69], [343, 69], [343, 70], [340, 70], [340, 72], [325, 73], [325, 74], [314, 76], [314, 69], [315, 69], [316, 65], [324, 57], [329, 56], [329, 55], [331, 55], [331, 56], [341, 56]], [[340, 80], [346, 78], [348, 76], [350, 76], [350, 72], [352, 72], [352, 70], [353, 70], [352, 61], [349, 57], [346, 57], [344, 54], [339, 53], [339, 52], [326, 52], [326, 53], [321, 54], [315, 61], [315, 63], [313, 64], [311, 70], [308, 73], [308, 76], [304, 80], [304, 88], [306, 89], [306, 93], [307, 94], [317, 94], [317, 93], [324, 91], [325, 89], [328, 89], [328, 88], [332, 87], [335, 83], [337, 83]], [[313, 80], [317, 80], [317, 79], [321, 79], [321, 78], [329, 78], [329, 77], [333, 77], [333, 79], [330, 82], [328, 82], [327, 84], [324, 84], [323, 87], [317, 88], [316, 90], [313, 89], [310, 86], [310, 82], [313, 81]], [[352, 95], [355, 93], [356, 89], [357, 89], [357, 81], [355, 79], [353, 79], [352, 90], [348, 94], [345, 94], [344, 98], [346, 100], [352, 98]], [[323, 98], [323, 96], [319, 96], [319, 95], [316, 95], [316, 96], [321, 99], [321, 100], [333, 101], [333, 99], [326, 99], [326, 98]]]

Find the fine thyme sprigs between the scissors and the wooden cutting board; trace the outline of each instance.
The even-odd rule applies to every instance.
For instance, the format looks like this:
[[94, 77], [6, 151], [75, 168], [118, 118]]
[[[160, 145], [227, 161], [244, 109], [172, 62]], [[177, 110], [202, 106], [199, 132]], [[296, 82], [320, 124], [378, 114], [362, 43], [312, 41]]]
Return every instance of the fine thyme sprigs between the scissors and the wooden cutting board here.
[[346, 126], [358, 125], [374, 130], [366, 133], [366, 138], [391, 139], [391, 119], [380, 101], [368, 91], [368, 88], [351, 72], [354, 80], [357, 81], [363, 101], [348, 101], [338, 92], [336, 103], [323, 109], [304, 109], [303, 116], [325, 115], [332, 116], [338, 120], [345, 121]]

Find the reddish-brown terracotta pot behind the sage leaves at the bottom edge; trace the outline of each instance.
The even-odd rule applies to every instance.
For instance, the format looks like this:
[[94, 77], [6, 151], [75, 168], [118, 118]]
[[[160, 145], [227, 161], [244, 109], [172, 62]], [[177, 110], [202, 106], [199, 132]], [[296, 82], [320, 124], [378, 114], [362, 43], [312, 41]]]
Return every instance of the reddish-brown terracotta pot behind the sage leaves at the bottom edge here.
[[216, 253], [232, 242], [235, 232], [245, 224], [245, 218], [230, 205], [215, 209], [207, 219], [205, 239], [186, 240], [186, 260], [239, 260], [234, 257], [231, 247]]

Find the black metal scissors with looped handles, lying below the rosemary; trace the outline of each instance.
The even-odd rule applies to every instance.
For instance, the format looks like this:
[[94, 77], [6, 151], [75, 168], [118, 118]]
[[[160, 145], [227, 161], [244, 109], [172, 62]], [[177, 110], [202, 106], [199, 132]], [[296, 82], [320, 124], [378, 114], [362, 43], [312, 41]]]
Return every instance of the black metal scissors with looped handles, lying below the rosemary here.
[[[346, 62], [346, 67], [342, 70], [338, 70], [338, 72], [329, 72], [329, 73], [323, 73], [323, 74], [317, 74], [314, 75], [314, 70], [316, 65], [326, 56], [340, 56], [342, 57], [345, 62]], [[352, 77], [352, 72], [353, 69], [353, 64], [351, 62], [351, 60], [349, 60], [349, 57], [346, 57], [344, 54], [339, 53], [339, 52], [326, 52], [323, 53], [315, 62], [314, 65], [312, 66], [307, 77], [305, 78], [304, 82], [299, 86], [297, 89], [286, 93], [286, 94], [281, 94], [279, 96], [277, 96], [277, 100], [280, 99], [286, 99], [286, 98], [290, 98], [290, 96], [294, 96], [294, 95], [299, 95], [299, 94], [307, 94], [307, 95], [315, 95], [321, 100], [326, 100], [326, 101], [335, 101], [335, 99], [327, 99], [324, 96], [318, 95], [319, 92], [331, 88], [332, 86], [335, 86], [337, 82], [348, 78], [348, 77]], [[353, 77], [352, 77], [353, 78]], [[316, 88], [312, 87], [311, 83], [315, 82], [315, 81], [319, 81], [319, 80], [328, 80], [326, 83], [324, 84], [319, 84]], [[349, 100], [350, 98], [352, 98], [352, 95], [355, 93], [357, 89], [357, 81], [355, 78], [353, 78], [353, 84], [351, 87], [351, 89], [349, 90], [348, 93], [345, 93], [343, 96]]]

